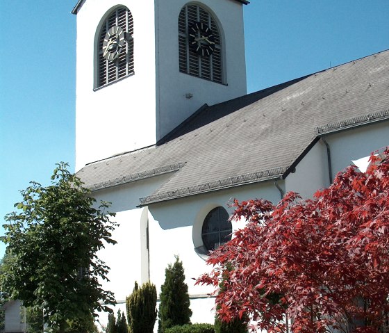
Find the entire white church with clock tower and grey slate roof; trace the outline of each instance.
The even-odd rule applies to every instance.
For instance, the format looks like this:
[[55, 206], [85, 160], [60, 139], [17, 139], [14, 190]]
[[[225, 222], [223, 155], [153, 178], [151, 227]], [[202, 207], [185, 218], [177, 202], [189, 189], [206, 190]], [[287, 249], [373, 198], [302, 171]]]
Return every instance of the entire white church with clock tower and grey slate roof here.
[[117, 245], [100, 256], [115, 311], [135, 281], [159, 293], [179, 256], [192, 323], [213, 323], [212, 290], [195, 279], [244, 227], [229, 203], [311, 197], [388, 145], [389, 51], [247, 95], [243, 6], [79, 0], [72, 11], [76, 172], [117, 214]]

